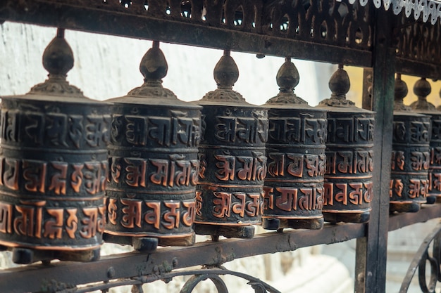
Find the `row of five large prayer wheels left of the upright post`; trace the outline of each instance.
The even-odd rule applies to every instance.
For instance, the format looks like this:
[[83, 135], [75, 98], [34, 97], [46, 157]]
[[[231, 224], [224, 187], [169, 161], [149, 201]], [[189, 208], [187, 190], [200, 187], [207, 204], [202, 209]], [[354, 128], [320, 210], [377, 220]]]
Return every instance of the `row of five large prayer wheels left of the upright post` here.
[[[0, 245], [16, 263], [94, 261], [103, 240], [151, 251], [193, 245], [195, 233], [216, 240], [253, 237], [259, 224], [369, 219], [374, 113], [346, 100], [342, 66], [332, 96], [313, 108], [294, 94], [290, 58], [280, 93], [262, 106], [232, 90], [239, 71], [229, 51], [214, 69], [218, 89], [193, 103], [161, 85], [168, 65], [157, 41], [139, 66], [144, 84], [105, 102], [66, 81], [64, 30], [43, 65], [45, 82], [1, 101]], [[393, 170], [395, 182], [406, 176]]]

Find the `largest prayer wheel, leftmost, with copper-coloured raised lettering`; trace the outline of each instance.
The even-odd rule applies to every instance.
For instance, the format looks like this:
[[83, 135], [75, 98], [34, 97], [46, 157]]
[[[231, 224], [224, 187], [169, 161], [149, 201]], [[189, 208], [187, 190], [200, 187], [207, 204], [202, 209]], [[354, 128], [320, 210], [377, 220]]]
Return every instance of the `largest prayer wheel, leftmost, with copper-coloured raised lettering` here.
[[0, 244], [15, 263], [99, 259], [111, 116], [66, 81], [73, 53], [59, 29], [49, 78], [1, 102]]

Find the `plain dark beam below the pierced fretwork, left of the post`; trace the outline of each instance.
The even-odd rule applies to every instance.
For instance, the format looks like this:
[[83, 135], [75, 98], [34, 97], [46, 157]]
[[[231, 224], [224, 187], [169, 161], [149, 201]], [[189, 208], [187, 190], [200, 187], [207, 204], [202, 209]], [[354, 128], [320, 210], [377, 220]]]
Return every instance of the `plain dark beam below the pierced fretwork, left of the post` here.
[[6, 0], [3, 8], [0, 6], [0, 19], [172, 44], [290, 56], [361, 67], [369, 67], [372, 63], [370, 51], [356, 48], [228, 30], [185, 21], [161, 20], [120, 11], [103, 11], [93, 6], [66, 3], [54, 5], [50, 1], [41, 0]]

